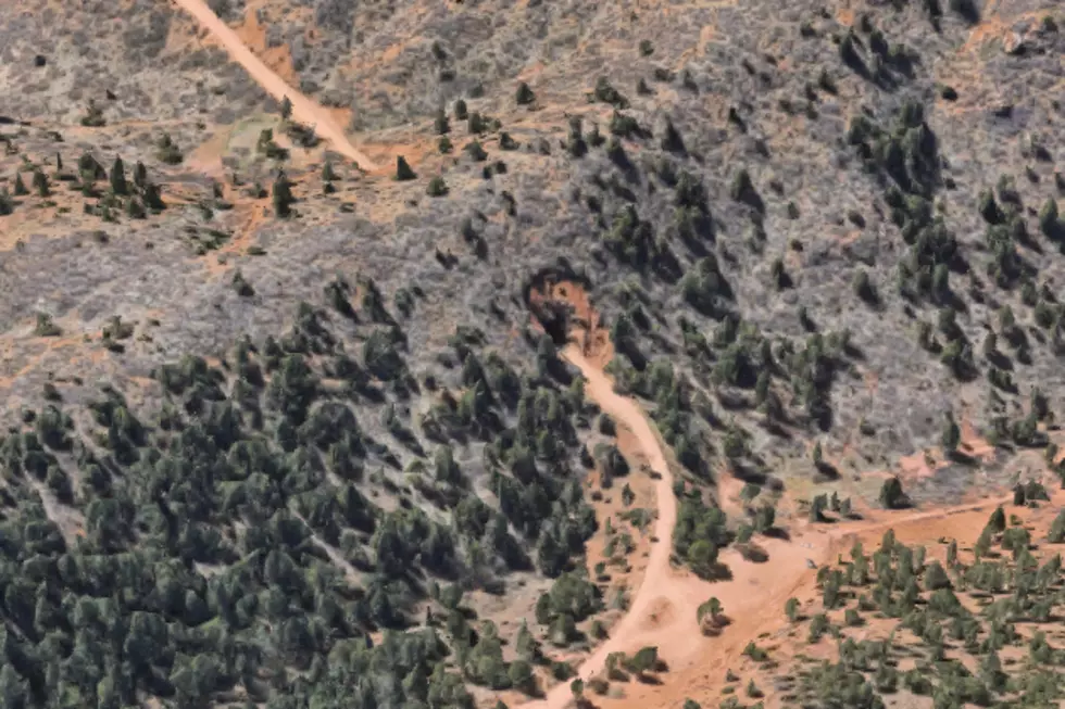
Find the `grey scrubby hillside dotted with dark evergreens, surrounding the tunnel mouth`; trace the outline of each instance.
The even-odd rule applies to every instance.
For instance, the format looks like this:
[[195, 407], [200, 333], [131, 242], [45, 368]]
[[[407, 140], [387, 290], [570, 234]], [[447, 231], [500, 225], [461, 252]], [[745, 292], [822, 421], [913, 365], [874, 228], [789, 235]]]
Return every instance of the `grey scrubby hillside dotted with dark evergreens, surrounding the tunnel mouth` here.
[[610, 486], [638, 460], [576, 330], [672, 448], [702, 575], [1056, 479], [1051, 0], [211, 4], [389, 167], [170, 3], [0, 10], [13, 706], [569, 679], [652, 504], [607, 507], [646, 476]]

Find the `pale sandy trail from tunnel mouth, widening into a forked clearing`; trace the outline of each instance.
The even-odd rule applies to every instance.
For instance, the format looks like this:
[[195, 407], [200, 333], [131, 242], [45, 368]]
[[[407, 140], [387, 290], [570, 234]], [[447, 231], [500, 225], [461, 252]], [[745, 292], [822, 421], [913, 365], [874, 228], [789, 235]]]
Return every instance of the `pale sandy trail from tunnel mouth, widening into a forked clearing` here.
[[[671, 664], [671, 674], [674, 670], [681, 674], [686, 670], [696, 670], [705, 682], [712, 674], [723, 673], [725, 667], [738, 660], [749, 640], [779, 621], [785, 600], [815, 582], [816, 571], [806, 566], [807, 558], [820, 566], [860, 534], [979, 510], [1011, 499], [1011, 496], [989, 498], [929, 511], [888, 514], [885, 519], [844, 523], [831, 529], [807, 529], [806, 533], [794, 534], [792, 542], [760, 539], [760, 545], [769, 555], [767, 564], [752, 564], [736, 549], [725, 549], [722, 561], [728, 565], [732, 578], [718, 583], [702, 581], [671, 566], [673, 531], [677, 523], [673, 474], [643, 410], [634, 400], [616, 394], [611, 380], [584, 356], [579, 346], [571, 343], [562, 354], [584, 376], [586, 395], [631, 430], [651, 469], [660, 476], [655, 482], [657, 520], [647, 570], [631, 598], [628, 612], [611, 629], [606, 642], [596, 648], [577, 670], [577, 675], [586, 682], [603, 672], [611, 653], [634, 651], [644, 645], [660, 648], [660, 656]], [[718, 637], [702, 636], [696, 623], [697, 608], [711, 596], [722, 602], [726, 616], [732, 620]], [[697, 684], [702, 682], [697, 681]], [[691, 688], [689, 685], [688, 689]], [[631, 697], [632, 700], [661, 704], [677, 687], [667, 684], [662, 687], [634, 686], [632, 689], [637, 695]], [[638, 696], [644, 691], [649, 696]], [[562, 682], [551, 687], [542, 699], [521, 706], [522, 709], [565, 709], [572, 701], [569, 683]]]

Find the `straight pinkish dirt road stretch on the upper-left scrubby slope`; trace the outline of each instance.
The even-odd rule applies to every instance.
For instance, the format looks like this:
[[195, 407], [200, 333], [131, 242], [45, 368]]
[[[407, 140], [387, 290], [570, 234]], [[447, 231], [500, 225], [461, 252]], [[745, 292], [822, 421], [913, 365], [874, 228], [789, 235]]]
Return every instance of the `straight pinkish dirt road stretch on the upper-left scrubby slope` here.
[[222, 42], [229, 56], [243, 66], [251, 77], [271, 96], [278, 101], [288, 97], [288, 100], [292, 102], [292, 116], [297, 121], [314, 126], [315, 132], [333, 143], [333, 149], [336, 152], [359, 163], [362, 169], [374, 170], [377, 168], [365, 153], [351, 144], [351, 141], [344, 136], [343, 129], [336, 124], [328, 112], [290, 87], [281, 77], [277, 76], [277, 74], [240, 41], [240, 38], [237, 37], [235, 31], [218, 20], [218, 16], [211, 11], [203, 0], [174, 0], [174, 2], [196, 17], [202, 27], [214, 35]]

